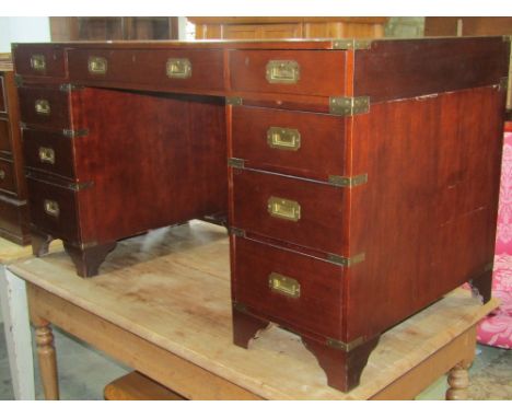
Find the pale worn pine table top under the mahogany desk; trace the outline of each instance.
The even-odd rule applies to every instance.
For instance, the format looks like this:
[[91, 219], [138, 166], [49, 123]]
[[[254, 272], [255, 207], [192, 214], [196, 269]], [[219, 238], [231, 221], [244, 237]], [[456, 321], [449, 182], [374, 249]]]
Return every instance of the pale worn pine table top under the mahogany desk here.
[[101, 275], [83, 279], [60, 252], [9, 266], [19, 277], [229, 381], [270, 399], [365, 399], [493, 310], [457, 289], [383, 334], [344, 394], [300, 337], [270, 326], [249, 349], [232, 344], [229, 241], [200, 221], [118, 243]]

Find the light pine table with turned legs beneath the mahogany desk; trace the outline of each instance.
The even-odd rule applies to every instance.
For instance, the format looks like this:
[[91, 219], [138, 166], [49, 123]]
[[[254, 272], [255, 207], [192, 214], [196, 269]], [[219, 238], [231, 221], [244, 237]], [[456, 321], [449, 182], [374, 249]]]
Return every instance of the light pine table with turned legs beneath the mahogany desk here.
[[383, 334], [361, 385], [344, 394], [291, 333], [268, 328], [251, 350], [232, 344], [224, 229], [194, 221], [159, 236], [120, 242], [88, 280], [65, 253], [9, 267], [27, 282], [48, 399], [59, 397], [51, 324], [190, 399], [406, 399], [450, 370], [447, 397], [463, 398], [475, 325], [498, 303], [450, 293]]

